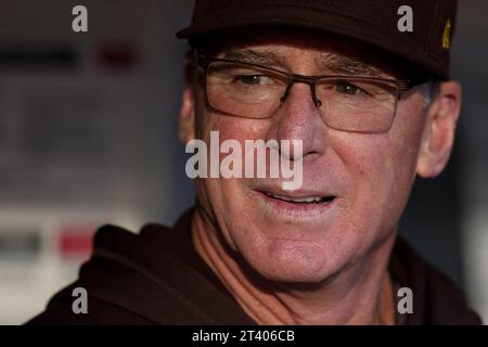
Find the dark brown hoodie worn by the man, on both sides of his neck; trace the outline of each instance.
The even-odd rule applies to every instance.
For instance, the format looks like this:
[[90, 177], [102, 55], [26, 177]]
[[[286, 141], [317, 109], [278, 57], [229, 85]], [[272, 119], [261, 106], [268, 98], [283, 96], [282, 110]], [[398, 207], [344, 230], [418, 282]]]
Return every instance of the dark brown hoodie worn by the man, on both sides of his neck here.
[[[54, 295], [27, 324], [255, 324], [198, 257], [192, 210], [170, 229], [146, 224], [139, 234], [104, 226], [78, 280]], [[414, 293], [402, 324], [480, 324], [463, 293], [397, 237], [389, 271]], [[75, 314], [75, 287], [88, 292], [88, 313]]]

